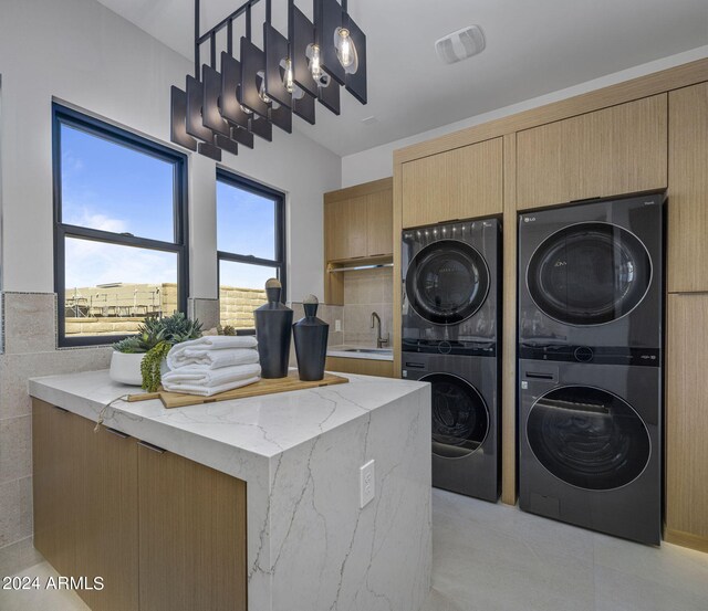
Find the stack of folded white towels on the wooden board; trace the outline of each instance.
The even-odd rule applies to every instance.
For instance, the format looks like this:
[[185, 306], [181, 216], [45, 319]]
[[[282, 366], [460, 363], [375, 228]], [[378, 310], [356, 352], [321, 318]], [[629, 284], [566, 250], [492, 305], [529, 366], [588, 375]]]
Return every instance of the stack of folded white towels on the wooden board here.
[[252, 335], [204, 336], [173, 346], [163, 388], [211, 397], [261, 379], [258, 341]]

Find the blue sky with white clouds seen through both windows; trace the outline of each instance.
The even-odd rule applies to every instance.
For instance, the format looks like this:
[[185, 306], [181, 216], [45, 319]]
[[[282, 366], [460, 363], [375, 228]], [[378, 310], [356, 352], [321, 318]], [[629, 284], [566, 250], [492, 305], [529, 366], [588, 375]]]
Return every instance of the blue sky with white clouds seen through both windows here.
[[[174, 240], [171, 164], [62, 126], [63, 222], [140, 238]], [[198, 213], [198, 202], [191, 214]], [[217, 183], [218, 249], [274, 257], [274, 204], [271, 200]], [[216, 272], [216, 271], [215, 271]], [[273, 270], [221, 265], [221, 284], [262, 287]], [[114, 282], [176, 282], [170, 253], [66, 242], [66, 288]]]

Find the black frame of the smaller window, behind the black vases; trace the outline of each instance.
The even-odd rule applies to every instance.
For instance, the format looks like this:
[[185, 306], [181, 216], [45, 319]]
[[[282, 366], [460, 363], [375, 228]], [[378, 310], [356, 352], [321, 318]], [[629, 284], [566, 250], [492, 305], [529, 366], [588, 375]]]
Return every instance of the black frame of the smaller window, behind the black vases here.
[[[285, 193], [256, 182], [249, 178], [244, 178], [223, 168], [217, 167], [217, 182], [223, 182], [236, 189], [248, 191], [254, 196], [273, 200], [275, 204], [275, 259], [261, 259], [253, 255], [237, 254], [218, 250], [217, 244], [217, 291], [221, 295], [221, 262], [230, 261], [232, 263], [247, 263], [249, 265], [261, 265], [263, 267], [275, 267], [278, 270], [278, 280], [282, 285], [282, 298], [288, 298], [288, 251], [285, 242]], [[217, 223], [219, 222], [219, 202], [217, 204]], [[220, 309], [220, 308], [219, 308]], [[219, 324], [221, 314], [219, 310]]]

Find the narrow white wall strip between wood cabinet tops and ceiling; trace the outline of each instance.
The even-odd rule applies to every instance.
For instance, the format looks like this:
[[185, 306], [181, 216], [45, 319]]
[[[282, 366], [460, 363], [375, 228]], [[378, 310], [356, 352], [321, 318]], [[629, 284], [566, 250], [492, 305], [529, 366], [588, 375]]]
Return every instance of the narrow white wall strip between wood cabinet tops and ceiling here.
[[[423, 131], [421, 134], [417, 134], [408, 138], [402, 138], [400, 140], [395, 140], [393, 143], [371, 148], [362, 152], [347, 155], [346, 157], [342, 158], [342, 187], [351, 187], [353, 185], [360, 185], [362, 182], [368, 182], [369, 180], [377, 180], [379, 178], [392, 176], [393, 152], [394, 150], [397, 150], [399, 148], [429, 140], [430, 138], [436, 138], [445, 134], [451, 134], [452, 131], [458, 131], [460, 129], [465, 129], [466, 127], [471, 127], [472, 125], [479, 125], [489, 120], [514, 115], [517, 113], [521, 113], [522, 110], [528, 110], [529, 108], [537, 108], [545, 104], [551, 104], [552, 102], [558, 102], [559, 99], [565, 99], [586, 92], [614, 85], [616, 83], [622, 83], [623, 81], [628, 81], [631, 78], [652, 74], [653, 72], [658, 72], [673, 66], [693, 62], [694, 60], [700, 60], [702, 57], [708, 57], [708, 45], [699, 46], [698, 49], [694, 49], [685, 53], [678, 53], [677, 55], [671, 55], [669, 57], [664, 57], [662, 60], [623, 70], [614, 74], [608, 74], [606, 76], [602, 76], [601, 78], [587, 81], [573, 87], [568, 87], [565, 89], [534, 97], [532, 99], [520, 102], [511, 106], [506, 106], [497, 110], [476, 115], [457, 123], [451, 123], [436, 129]], [[460, 101], [460, 103], [464, 103], [464, 101]]]

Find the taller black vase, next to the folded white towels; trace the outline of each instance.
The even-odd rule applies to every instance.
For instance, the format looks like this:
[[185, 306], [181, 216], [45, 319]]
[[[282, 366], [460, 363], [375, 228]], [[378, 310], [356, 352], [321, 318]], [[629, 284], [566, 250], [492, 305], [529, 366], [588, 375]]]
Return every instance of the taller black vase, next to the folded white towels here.
[[268, 281], [268, 303], [253, 312], [261, 377], [267, 379], [288, 376], [292, 309], [280, 302], [281, 293], [282, 287], [278, 281]]

